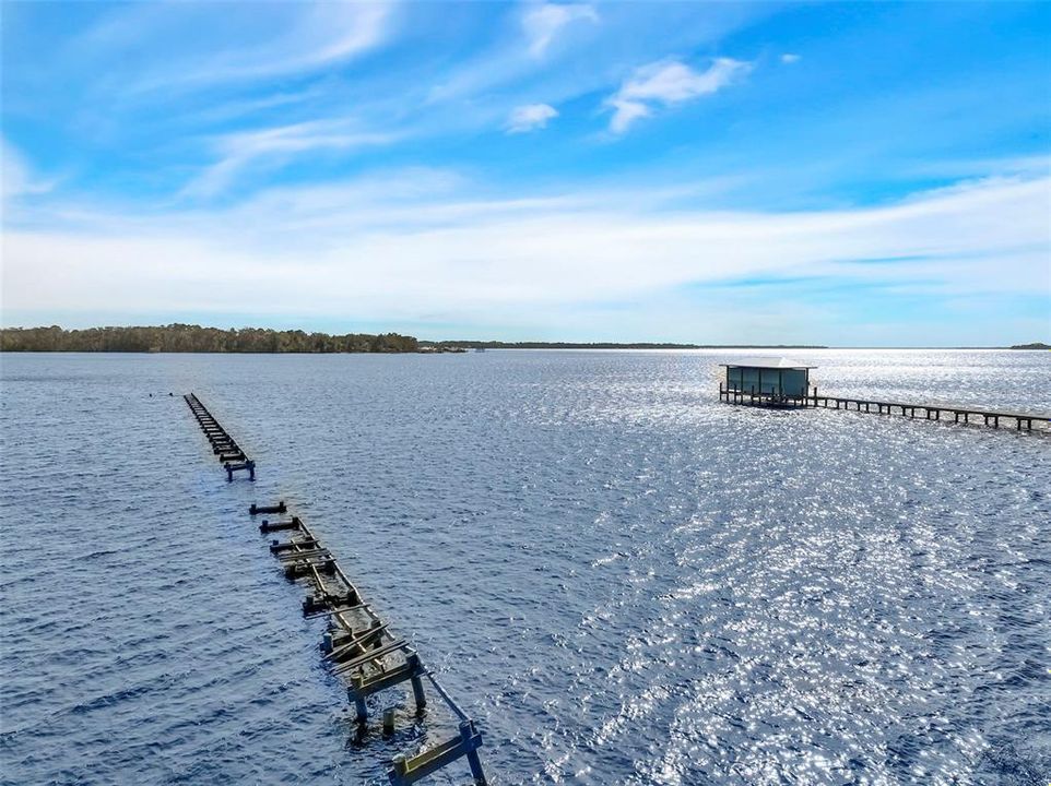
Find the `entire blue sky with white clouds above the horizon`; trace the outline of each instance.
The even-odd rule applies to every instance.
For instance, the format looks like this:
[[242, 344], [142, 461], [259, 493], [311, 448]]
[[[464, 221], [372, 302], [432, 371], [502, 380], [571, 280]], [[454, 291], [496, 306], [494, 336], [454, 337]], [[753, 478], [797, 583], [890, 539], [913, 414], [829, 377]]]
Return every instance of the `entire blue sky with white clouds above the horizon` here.
[[2, 11], [4, 325], [1051, 340], [1051, 3]]

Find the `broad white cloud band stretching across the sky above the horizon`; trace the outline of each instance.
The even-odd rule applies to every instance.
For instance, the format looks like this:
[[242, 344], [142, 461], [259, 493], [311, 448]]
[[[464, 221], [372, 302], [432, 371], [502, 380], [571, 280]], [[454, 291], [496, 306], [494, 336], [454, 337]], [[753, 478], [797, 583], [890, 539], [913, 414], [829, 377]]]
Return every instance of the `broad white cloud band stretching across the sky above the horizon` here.
[[[395, 172], [215, 211], [9, 227], [3, 308], [507, 323], [749, 276], [1030, 296], [1051, 286], [1049, 194], [1047, 177], [1012, 178], [857, 210], [661, 213], [637, 191], [486, 200], [448, 174]], [[852, 262], [877, 259], [909, 261]]]

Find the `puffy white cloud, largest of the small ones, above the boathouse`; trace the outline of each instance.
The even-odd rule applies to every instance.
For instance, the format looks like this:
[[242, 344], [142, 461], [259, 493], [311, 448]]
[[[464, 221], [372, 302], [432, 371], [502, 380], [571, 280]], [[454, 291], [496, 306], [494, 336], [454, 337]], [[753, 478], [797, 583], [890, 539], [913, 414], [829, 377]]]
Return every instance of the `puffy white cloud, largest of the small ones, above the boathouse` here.
[[636, 120], [651, 115], [656, 105], [681, 104], [716, 93], [751, 69], [751, 63], [731, 58], [717, 58], [707, 71], [695, 71], [676, 60], [643, 66], [606, 99], [613, 108], [610, 130], [624, 133]]

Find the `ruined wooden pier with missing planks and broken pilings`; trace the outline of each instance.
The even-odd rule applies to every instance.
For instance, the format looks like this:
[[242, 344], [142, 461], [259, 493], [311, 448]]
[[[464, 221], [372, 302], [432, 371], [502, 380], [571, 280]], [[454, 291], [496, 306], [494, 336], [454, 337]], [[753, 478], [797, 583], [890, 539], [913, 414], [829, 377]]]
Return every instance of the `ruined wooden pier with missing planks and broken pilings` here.
[[[197, 396], [191, 393], [185, 398], [205, 436], [212, 441], [213, 450], [217, 452], [219, 446], [228, 448], [228, 442], [233, 440]], [[216, 444], [216, 440], [220, 444]], [[245, 468], [249, 469], [253, 479], [255, 462], [241, 453], [240, 463], [250, 465]], [[228, 478], [232, 478], [229, 462], [224, 466]], [[485, 786], [485, 772], [477, 752], [482, 747], [482, 735], [437, 677], [424, 666], [416, 648], [395, 634], [380, 618], [318, 536], [302, 517], [288, 513], [284, 500], [271, 505], [253, 503], [248, 514], [252, 517], [268, 516], [259, 524], [261, 534], [285, 534], [284, 539], [271, 539], [270, 552], [280, 562], [288, 581], [308, 587], [303, 600], [303, 616], [326, 620], [326, 632], [320, 643], [322, 658], [333, 675], [349, 683], [347, 696], [354, 704], [359, 728], [364, 729], [368, 722], [369, 696], [406, 683], [412, 690], [416, 714], [421, 715], [427, 706], [424, 680], [454, 716], [454, 735], [427, 750], [393, 758], [388, 771], [392, 786], [414, 784], [461, 758], [467, 759], [475, 786]], [[288, 514], [287, 519], [272, 517], [285, 514]], [[385, 736], [394, 731], [393, 708], [387, 708], [382, 714], [382, 731]]]

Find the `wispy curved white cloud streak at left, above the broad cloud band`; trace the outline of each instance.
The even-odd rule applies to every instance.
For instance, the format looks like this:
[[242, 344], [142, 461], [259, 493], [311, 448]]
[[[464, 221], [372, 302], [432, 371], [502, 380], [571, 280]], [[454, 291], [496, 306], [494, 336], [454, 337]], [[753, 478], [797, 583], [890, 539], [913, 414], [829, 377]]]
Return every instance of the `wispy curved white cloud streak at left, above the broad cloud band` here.
[[393, 142], [395, 134], [365, 132], [345, 120], [317, 120], [222, 136], [221, 159], [182, 189], [185, 196], [212, 196], [253, 164], [280, 166], [309, 151], [347, 151]]

